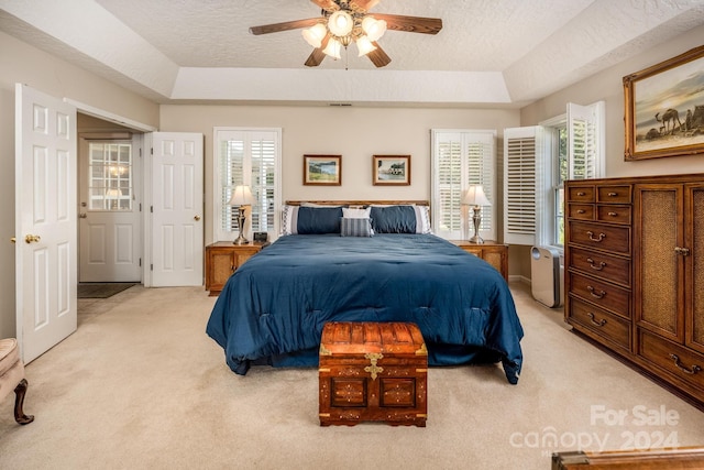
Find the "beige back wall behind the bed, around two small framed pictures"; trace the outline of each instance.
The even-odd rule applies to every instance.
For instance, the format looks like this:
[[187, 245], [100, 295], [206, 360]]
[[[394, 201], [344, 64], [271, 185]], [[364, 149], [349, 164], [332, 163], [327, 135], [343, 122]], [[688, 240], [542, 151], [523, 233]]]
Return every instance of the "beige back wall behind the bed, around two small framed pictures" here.
[[[282, 128], [283, 199], [430, 199], [430, 130], [518, 125], [517, 110], [162, 106], [163, 131], [206, 135], [206, 241], [212, 238], [213, 127]], [[503, 151], [501, 140], [497, 144]], [[302, 155], [342, 155], [341, 186], [304, 186]], [[373, 186], [372, 155], [411, 155], [410, 186]], [[501, 179], [501, 175], [497, 175]]]

